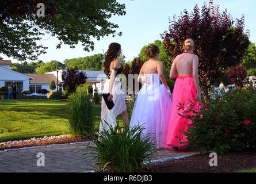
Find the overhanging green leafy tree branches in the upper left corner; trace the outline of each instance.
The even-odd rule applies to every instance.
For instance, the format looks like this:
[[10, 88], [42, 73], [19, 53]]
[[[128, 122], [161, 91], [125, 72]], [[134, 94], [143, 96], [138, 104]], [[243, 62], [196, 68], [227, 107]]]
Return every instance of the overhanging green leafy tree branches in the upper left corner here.
[[[37, 3], [41, 6], [37, 7]], [[116, 33], [119, 26], [109, 19], [125, 13], [125, 4], [116, 0], [2, 0], [0, 53], [20, 61], [35, 60], [46, 53], [47, 47], [36, 42], [45, 33], [58, 37], [56, 48], [62, 44], [75, 48], [81, 41], [83, 49], [90, 51], [94, 49], [92, 37], [100, 40], [109, 35], [121, 36], [121, 32]]]

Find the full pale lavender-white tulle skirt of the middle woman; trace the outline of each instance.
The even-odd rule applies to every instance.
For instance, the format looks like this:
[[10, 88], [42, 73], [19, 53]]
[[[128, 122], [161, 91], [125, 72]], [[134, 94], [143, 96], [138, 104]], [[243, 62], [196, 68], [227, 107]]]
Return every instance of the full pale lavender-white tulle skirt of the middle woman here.
[[170, 110], [170, 93], [164, 85], [143, 85], [137, 95], [133, 107], [131, 122], [129, 127], [140, 125], [145, 128], [142, 137], [148, 133], [154, 137], [156, 148], [159, 148], [163, 123], [166, 121], [166, 114]]

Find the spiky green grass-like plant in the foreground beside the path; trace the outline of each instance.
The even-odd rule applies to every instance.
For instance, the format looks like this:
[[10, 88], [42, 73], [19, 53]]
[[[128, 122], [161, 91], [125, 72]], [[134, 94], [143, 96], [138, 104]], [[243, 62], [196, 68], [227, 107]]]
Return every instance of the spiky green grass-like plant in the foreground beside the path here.
[[[154, 137], [150, 133], [142, 135], [143, 127], [121, 129], [119, 123], [112, 127], [107, 122], [109, 131], [105, 129], [99, 133], [101, 143], [96, 140], [96, 144], [87, 145], [86, 150], [92, 153], [91, 160], [95, 160], [93, 167], [95, 170], [112, 173], [133, 173], [142, 171], [143, 163], [148, 166], [157, 157]], [[87, 155], [87, 154], [83, 154]]]

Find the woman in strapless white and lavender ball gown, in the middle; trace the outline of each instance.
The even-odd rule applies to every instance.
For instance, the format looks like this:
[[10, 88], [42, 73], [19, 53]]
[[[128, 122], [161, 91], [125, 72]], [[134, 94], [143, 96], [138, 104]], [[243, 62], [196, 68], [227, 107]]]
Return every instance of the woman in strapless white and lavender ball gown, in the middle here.
[[142, 136], [152, 133], [156, 148], [159, 148], [162, 125], [170, 114], [170, 89], [163, 75], [163, 63], [158, 61], [159, 48], [155, 45], [148, 46], [146, 53], [150, 59], [140, 70], [138, 81], [144, 85], [137, 95], [129, 127], [144, 127]]

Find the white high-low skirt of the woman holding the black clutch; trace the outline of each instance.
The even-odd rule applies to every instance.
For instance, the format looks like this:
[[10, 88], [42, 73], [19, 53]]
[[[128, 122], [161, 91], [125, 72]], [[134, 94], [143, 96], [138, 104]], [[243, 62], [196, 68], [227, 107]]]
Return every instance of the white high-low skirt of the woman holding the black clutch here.
[[[113, 128], [116, 126], [116, 117], [124, 112], [124, 110], [127, 109], [126, 104], [125, 104], [125, 98], [123, 91], [121, 89], [121, 83], [120, 79], [116, 78], [116, 81], [114, 82], [114, 86], [112, 89], [112, 94], [113, 94], [113, 102], [114, 102], [114, 107], [109, 110], [106, 106], [106, 103], [102, 97], [101, 100], [101, 124], [100, 124], [100, 132], [105, 129], [106, 131], [109, 130], [108, 125], [105, 123], [105, 121], [112, 126]], [[109, 82], [110, 79], [107, 79], [105, 84], [104, 84], [104, 89], [103, 93], [109, 93]]]

